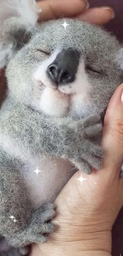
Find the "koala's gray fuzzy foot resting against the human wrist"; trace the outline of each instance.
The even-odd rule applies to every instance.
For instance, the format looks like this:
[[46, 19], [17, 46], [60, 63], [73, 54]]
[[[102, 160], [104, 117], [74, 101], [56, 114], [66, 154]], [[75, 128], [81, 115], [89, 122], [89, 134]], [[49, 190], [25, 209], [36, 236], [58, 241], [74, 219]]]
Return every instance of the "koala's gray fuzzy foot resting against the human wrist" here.
[[55, 225], [51, 220], [55, 217], [55, 207], [53, 204], [44, 204], [35, 210], [28, 222], [27, 227], [21, 232], [17, 232], [9, 243], [14, 247], [24, 247], [31, 243], [45, 243], [46, 234], [55, 230]]

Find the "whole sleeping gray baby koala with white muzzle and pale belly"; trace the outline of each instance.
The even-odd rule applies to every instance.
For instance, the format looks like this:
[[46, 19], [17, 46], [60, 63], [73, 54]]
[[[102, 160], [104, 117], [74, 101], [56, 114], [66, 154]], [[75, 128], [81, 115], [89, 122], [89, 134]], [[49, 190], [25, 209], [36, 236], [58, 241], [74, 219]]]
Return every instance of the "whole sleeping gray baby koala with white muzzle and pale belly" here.
[[0, 234], [14, 247], [45, 242], [63, 186], [101, 167], [104, 113], [122, 82], [114, 36], [73, 19], [38, 24], [38, 11], [0, 0]]

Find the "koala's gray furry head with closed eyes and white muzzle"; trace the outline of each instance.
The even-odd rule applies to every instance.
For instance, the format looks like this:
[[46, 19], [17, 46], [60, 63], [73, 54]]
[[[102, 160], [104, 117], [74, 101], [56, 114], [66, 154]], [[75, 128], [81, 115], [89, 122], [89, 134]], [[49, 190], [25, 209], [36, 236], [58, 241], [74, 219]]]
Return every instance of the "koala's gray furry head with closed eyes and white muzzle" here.
[[11, 17], [4, 27], [10, 97], [48, 115], [104, 112], [122, 82], [114, 36], [74, 19], [32, 26]]

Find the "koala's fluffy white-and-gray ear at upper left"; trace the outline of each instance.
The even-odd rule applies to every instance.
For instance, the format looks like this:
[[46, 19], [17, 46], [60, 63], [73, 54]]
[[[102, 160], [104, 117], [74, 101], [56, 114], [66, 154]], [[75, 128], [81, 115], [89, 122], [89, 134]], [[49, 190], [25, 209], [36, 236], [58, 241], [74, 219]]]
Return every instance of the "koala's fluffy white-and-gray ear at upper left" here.
[[31, 38], [38, 12], [35, 0], [0, 0], [0, 69]]

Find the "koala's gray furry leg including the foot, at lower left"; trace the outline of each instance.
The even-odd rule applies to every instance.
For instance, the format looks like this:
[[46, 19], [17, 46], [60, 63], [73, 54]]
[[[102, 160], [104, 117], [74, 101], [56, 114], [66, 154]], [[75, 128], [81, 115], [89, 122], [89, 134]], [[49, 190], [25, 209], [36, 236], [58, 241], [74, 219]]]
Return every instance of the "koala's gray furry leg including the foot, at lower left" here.
[[50, 223], [55, 215], [53, 204], [33, 210], [28, 200], [23, 177], [23, 164], [0, 152], [0, 233], [11, 246], [24, 247], [45, 242], [44, 234], [54, 231]]

